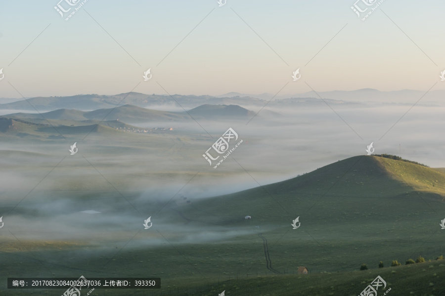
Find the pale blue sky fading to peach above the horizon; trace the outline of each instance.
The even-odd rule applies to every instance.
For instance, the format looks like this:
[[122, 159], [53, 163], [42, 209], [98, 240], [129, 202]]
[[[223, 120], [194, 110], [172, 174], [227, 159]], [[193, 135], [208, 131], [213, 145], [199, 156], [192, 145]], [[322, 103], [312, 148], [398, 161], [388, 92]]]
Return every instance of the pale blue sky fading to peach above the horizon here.
[[442, 0], [385, 0], [365, 21], [351, 0], [89, 0], [69, 21], [57, 2], [1, 1], [0, 97], [445, 89]]

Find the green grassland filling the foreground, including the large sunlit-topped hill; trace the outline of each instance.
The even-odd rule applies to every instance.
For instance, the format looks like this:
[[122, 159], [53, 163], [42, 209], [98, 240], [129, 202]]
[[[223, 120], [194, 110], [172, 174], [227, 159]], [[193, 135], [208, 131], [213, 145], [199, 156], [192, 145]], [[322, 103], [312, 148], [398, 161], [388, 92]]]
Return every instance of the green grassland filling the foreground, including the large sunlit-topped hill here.
[[[97, 167], [103, 171], [107, 165]], [[72, 168], [66, 166], [66, 170]], [[30, 201], [96, 199], [108, 205], [106, 217], [131, 213], [116, 193], [98, 195], [110, 190], [103, 180], [98, 183], [86, 176], [64, 182], [64, 174], [57, 172], [62, 196], [36, 194]], [[118, 188], [126, 184], [105, 176]], [[404, 263], [419, 255], [434, 260], [443, 253], [439, 222], [445, 218], [444, 181], [440, 170], [356, 156], [280, 183], [207, 199], [191, 196], [191, 204], [181, 203], [180, 198], [165, 207], [165, 202], [156, 199], [142, 203], [136, 198], [140, 192], [127, 188], [122, 192], [141, 212], [160, 211], [153, 215], [151, 229], [139, 231], [137, 217], [126, 228], [99, 224], [89, 237], [76, 240], [57, 239], [56, 233], [49, 236], [44, 230], [30, 239], [30, 230], [11, 229], [16, 238], [0, 234], [0, 277], [153, 276], [162, 278], [163, 295], [210, 296], [225, 290], [226, 295], [312, 296], [358, 295], [380, 275], [392, 288], [389, 295], [443, 295], [441, 261], [377, 266], [379, 261], [389, 266], [391, 260]], [[80, 210], [77, 207], [73, 210]], [[34, 215], [36, 220], [46, 215], [27, 208], [18, 208], [16, 213]], [[246, 215], [252, 219], [244, 220]], [[292, 229], [296, 217], [302, 224]], [[86, 216], [82, 219], [87, 225], [101, 223]], [[267, 239], [273, 269], [279, 273], [267, 269], [259, 233]], [[356, 271], [363, 262], [373, 269]], [[307, 266], [311, 274], [293, 274], [298, 266]], [[119, 291], [95, 290], [94, 295], [144, 295], [144, 291]], [[60, 291], [0, 292], [51, 296]], [[145, 291], [145, 295], [160, 293]]]

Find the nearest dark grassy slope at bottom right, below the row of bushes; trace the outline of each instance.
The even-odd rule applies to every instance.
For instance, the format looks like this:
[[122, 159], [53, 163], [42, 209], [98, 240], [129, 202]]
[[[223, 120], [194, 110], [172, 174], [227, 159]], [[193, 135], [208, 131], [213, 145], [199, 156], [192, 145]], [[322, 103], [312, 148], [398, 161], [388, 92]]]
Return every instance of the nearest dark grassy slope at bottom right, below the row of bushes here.
[[[283, 275], [233, 279], [219, 285], [202, 285], [187, 294], [179, 295], [225, 295], [255, 296], [357, 296], [378, 275], [386, 281], [386, 289], [380, 288], [383, 295], [440, 296], [445, 295], [445, 262], [433, 260], [399, 267], [385, 267], [366, 271], [319, 273], [308, 275]], [[380, 291], [382, 290], [382, 291]]]

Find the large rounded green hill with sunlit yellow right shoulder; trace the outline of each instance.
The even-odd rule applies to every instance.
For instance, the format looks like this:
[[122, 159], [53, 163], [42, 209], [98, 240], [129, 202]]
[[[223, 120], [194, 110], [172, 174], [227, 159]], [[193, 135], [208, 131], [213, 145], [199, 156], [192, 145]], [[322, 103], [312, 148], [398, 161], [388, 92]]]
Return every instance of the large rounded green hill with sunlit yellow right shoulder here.
[[[180, 211], [190, 227], [256, 229], [269, 242], [265, 266], [270, 260], [274, 269], [269, 272], [283, 274], [301, 265], [313, 272], [333, 272], [356, 270], [363, 262], [377, 266], [380, 260], [436, 258], [442, 252], [444, 200], [444, 173], [363, 155], [283, 182], [191, 199], [191, 205], [172, 209]], [[245, 220], [247, 215], [252, 218]], [[301, 227], [292, 229], [297, 217]], [[258, 262], [253, 259], [258, 254], [255, 245], [261, 243], [258, 236], [230, 243], [236, 245], [233, 252], [244, 254], [245, 262]], [[218, 262], [229, 268], [224, 264]]]

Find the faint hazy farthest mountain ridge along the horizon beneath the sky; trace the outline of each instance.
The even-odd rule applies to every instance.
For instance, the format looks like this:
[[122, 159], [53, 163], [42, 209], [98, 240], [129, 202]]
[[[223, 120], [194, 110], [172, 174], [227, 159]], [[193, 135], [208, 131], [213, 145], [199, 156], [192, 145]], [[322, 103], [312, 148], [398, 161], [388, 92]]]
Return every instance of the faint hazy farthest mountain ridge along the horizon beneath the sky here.
[[[201, 105], [239, 105], [241, 107], [274, 106], [278, 100], [291, 98], [315, 98], [336, 101], [348, 101], [349, 103], [403, 103], [414, 104], [422, 98], [419, 104], [443, 104], [445, 90], [433, 90], [429, 92], [418, 90], [379, 91], [371, 88], [363, 88], [354, 91], [313, 91], [302, 94], [272, 95], [263, 93], [259, 95], [230, 92], [221, 96], [194, 96], [194, 95], [147, 95], [136, 92], [122, 93], [118, 95], [76, 95], [66, 97], [35, 97], [6, 104], [0, 104], [0, 110], [29, 110], [48, 111], [57, 109], [76, 109], [83, 111], [115, 108], [118, 105], [134, 105], [142, 108], [150, 106], [175, 105], [185, 109], [192, 109]], [[273, 100], [272, 100], [273, 99]], [[269, 102], [270, 101], [270, 102]], [[269, 102], [269, 103], [268, 103]], [[298, 103], [298, 102], [294, 102]], [[179, 104], [179, 105], [178, 105]], [[34, 109], [35, 108], [35, 109]]]

